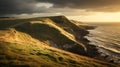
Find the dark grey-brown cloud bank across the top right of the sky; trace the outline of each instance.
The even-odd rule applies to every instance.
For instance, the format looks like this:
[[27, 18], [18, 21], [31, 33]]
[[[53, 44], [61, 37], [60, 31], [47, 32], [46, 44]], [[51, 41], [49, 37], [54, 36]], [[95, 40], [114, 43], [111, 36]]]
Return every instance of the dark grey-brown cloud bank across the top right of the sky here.
[[69, 7], [78, 9], [111, 11], [118, 10], [120, 0], [36, 0], [53, 3], [54, 7]]

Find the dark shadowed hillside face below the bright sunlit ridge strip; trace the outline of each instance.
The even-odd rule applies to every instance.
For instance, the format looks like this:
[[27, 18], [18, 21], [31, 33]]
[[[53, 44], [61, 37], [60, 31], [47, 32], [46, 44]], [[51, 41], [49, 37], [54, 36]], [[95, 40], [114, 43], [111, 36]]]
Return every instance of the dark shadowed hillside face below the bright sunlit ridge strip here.
[[[25, 23], [15, 27], [16, 30], [27, 33], [33, 38], [36, 38], [40, 41], [52, 41], [53, 47], [67, 50], [73, 53], [86, 55], [84, 48], [80, 45], [77, 45], [74, 41], [70, 40], [61, 32], [47, 24], [40, 23]], [[51, 45], [50, 45], [51, 46]]]

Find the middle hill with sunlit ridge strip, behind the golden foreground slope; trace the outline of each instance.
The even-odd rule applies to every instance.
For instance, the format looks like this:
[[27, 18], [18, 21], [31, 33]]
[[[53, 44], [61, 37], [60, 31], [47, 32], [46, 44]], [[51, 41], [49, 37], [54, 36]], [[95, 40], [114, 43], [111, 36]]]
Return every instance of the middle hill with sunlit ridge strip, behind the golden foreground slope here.
[[[60, 18], [58, 19], [64, 20]], [[67, 24], [69, 23], [70, 22], [67, 22]], [[57, 22], [51, 20], [50, 18], [6, 19], [1, 20], [0, 25], [0, 29], [15, 28], [18, 31], [31, 35], [33, 38], [50, 43], [50, 46], [86, 55], [87, 50], [85, 45], [82, 42], [78, 42], [76, 40], [76, 36], [69, 32], [72, 30], [72, 26], [75, 27], [75, 29], [78, 28], [71, 23], [69, 24], [70, 26], [68, 26], [69, 31], [66, 31], [63, 27], [61, 27], [62, 25], [58, 25]]]

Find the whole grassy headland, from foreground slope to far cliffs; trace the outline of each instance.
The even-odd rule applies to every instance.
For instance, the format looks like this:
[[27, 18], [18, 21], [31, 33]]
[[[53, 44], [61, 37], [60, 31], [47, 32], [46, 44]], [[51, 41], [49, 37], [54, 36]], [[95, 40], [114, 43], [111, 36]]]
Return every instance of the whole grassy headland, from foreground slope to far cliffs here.
[[0, 67], [118, 67], [95, 59], [84, 38], [94, 28], [65, 16], [0, 18]]

